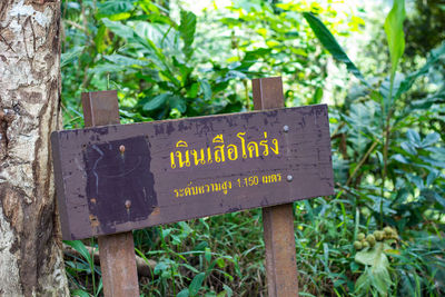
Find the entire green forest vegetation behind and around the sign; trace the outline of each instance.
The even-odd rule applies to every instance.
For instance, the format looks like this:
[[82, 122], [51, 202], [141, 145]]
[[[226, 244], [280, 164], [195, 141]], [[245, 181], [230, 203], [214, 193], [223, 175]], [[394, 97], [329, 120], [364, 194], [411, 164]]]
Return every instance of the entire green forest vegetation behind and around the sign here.
[[[248, 111], [250, 79], [281, 76], [287, 107], [329, 105], [336, 181], [294, 204], [300, 296], [445, 295], [444, 1], [61, 9], [65, 129], [82, 91], [118, 90], [128, 123]], [[142, 296], [266, 296], [261, 225], [253, 209], [134, 231]], [[100, 296], [96, 240], [66, 244], [72, 295]]]

